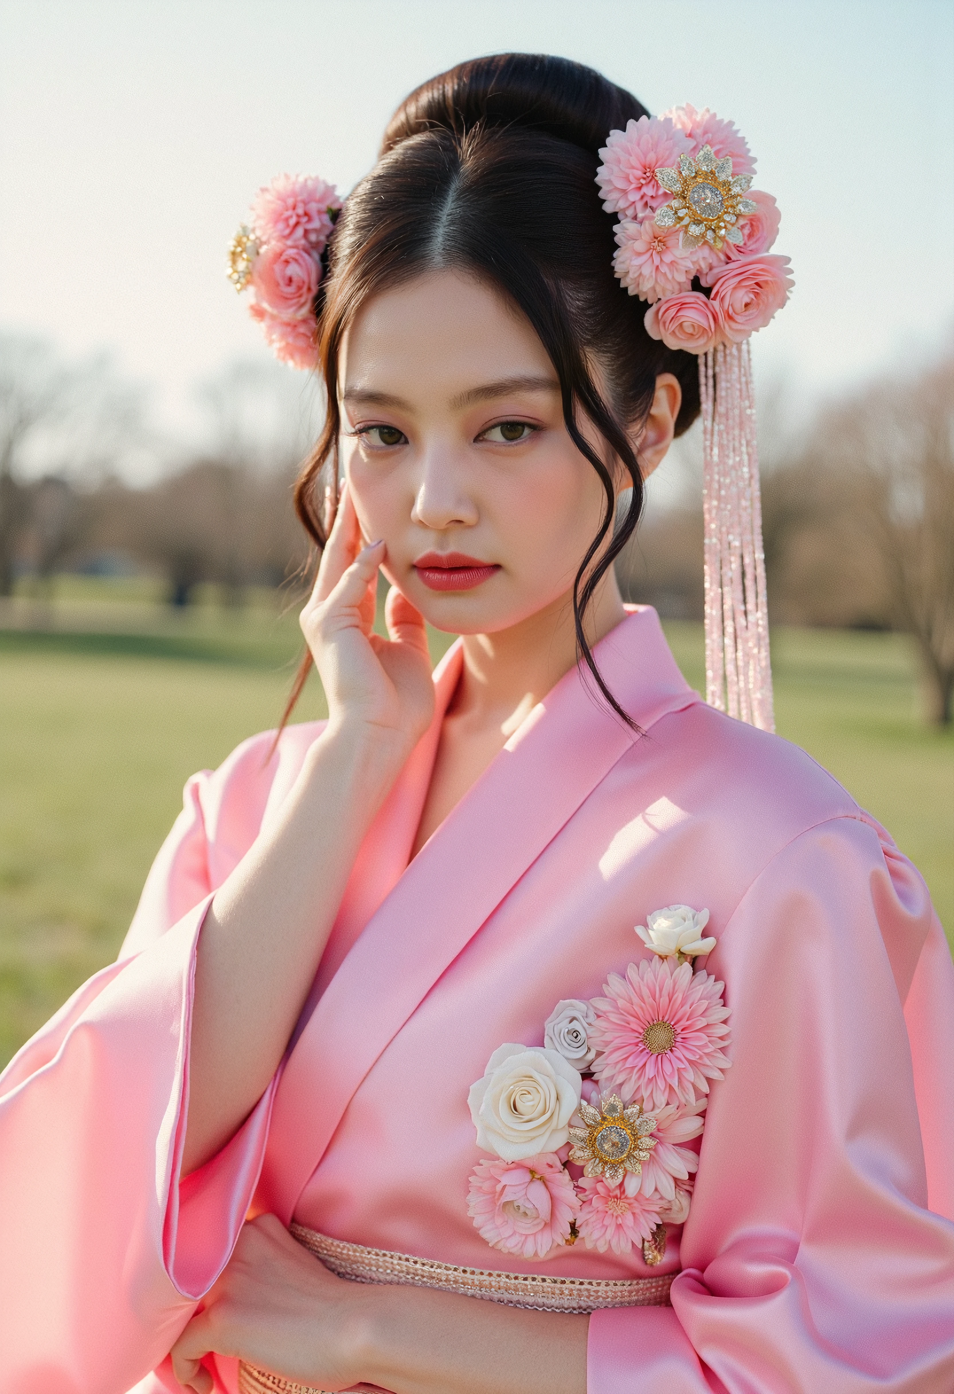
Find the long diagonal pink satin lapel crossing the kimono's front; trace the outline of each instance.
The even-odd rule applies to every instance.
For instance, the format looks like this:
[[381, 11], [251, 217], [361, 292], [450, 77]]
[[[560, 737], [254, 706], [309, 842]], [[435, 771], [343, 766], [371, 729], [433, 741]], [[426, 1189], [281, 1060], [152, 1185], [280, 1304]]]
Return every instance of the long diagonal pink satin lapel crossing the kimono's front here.
[[[700, 700], [654, 611], [632, 613], [596, 657], [643, 730]], [[257, 1210], [289, 1223], [374, 1062], [637, 739], [576, 668], [530, 712], [400, 875], [317, 1002], [276, 1093]]]

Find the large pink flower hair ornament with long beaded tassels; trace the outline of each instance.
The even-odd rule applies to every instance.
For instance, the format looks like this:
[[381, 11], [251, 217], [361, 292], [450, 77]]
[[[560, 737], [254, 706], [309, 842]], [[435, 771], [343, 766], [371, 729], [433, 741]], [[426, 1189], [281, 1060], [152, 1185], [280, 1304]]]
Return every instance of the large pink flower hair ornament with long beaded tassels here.
[[600, 151], [619, 216], [612, 268], [650, 307], [646, 332], [699, 357], [706, 520], [706, 700], [774, 730], [768, 602], [749, 337], [792, 289], [771, 194], [731, 121], [678, 106], [628, 121]]

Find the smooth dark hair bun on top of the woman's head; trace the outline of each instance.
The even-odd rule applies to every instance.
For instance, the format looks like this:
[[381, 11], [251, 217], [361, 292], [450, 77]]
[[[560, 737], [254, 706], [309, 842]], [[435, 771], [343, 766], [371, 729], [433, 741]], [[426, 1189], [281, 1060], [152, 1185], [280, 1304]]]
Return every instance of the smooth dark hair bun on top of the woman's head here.
[[384, 135], [386, 155], [410, 135], [476, 125], [522, 125], [597, 155], [607, 132], [649, 116], [625, 88], [570, 59], [497, 53], [471, 59], [423, 82], [400, 103]]

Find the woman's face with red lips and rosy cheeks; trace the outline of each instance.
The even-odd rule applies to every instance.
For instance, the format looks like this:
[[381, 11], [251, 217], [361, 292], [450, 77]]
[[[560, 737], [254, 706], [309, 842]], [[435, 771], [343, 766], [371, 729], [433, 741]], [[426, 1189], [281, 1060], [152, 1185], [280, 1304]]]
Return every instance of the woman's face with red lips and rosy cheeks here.
[[605, 495], [543, 344], [499, 294], [439, 270], [375, 296], [339, 381], [361, 530], [431, 625], [494, 633], [568, 595]]

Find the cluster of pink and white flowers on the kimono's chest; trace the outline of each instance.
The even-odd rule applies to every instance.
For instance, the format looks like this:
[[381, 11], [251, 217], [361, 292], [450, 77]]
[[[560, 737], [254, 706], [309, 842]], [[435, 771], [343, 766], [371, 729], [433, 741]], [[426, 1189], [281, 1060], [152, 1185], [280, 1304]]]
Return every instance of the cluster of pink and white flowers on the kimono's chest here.
[[685, 1143], [729, 1065], [724, 984], [693, 972], [716, 947], [707, 923], [688, 905], [654, 910], [636, 926], [654, 958], [610, 973], [604, 997], [558, 1002], [543, 1046], [501, 1046], [471, 1085], [477, 1146], [494, 1156], [474, 1168], [467, 1210], [492, 1248], [547, 1259], [582, 1239], [662, 1259], [667, 1224], [692, 1202], [699, 1158]]

